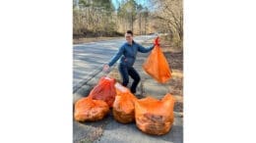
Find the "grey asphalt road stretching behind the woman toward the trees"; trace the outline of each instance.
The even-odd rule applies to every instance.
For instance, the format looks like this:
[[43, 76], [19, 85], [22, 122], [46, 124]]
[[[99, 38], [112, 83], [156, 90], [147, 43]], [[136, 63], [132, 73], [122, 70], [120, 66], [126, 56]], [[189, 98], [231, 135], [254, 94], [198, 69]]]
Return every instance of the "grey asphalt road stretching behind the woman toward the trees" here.
[[[156, 35], [135, 36], [134, 40], [142, 43]], [[73, 46], [73, 90], [81, 87], [96, 72], [102, 70], [103, 64], [109, 62], [118, 48], [125, 42], [124, 38], [77, 44]]]

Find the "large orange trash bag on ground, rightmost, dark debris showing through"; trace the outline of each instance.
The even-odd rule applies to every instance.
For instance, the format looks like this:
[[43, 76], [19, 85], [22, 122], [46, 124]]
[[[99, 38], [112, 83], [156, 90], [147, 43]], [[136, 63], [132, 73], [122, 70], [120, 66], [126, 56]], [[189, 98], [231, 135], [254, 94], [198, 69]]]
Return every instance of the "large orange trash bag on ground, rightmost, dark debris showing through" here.
[[135, 103], [137, 127], [145, 133], [162, 135], [169, 131], [174, 121], [174, 98], [166, 94], [161, 100], [147, 97]]

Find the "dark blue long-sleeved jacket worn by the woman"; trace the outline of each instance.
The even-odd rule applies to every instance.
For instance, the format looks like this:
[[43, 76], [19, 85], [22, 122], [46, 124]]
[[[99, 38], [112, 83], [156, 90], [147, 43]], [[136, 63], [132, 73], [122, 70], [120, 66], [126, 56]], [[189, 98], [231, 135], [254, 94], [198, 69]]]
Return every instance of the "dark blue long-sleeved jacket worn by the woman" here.
[[133, 41], [133, 44], [130, 45], [128, 42], [124, 43], [115, 54], [115, 56], [108, 63], [108, 66], [111, 67], [115, 62], [122, 56], [121, 65], [126, 65], [132, 67], [136, 60], [137, 52], [147, 53], [154, 48], [154, 45], [149, 48], [144, 48], [142, 45]]

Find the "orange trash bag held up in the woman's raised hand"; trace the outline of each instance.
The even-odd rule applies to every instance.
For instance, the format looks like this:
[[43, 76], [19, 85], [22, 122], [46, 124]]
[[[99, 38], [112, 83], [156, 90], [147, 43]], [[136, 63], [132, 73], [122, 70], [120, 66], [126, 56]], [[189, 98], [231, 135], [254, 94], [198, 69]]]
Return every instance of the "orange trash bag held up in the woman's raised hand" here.
[[171, 78], [168, 63], [160, 49], [159, 38], [155, 40], [155, 48], [143, 64], [143, 69], [160, 83], [165, 83]]

